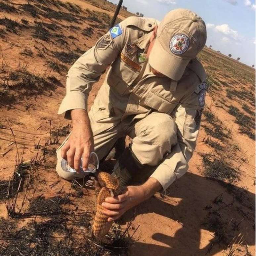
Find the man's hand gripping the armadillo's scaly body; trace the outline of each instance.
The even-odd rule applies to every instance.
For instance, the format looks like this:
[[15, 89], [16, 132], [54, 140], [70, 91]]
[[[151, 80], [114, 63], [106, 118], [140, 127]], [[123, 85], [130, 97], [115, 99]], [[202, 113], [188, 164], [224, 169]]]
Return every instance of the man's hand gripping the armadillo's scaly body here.
[[103, 213], [109, 216], [107, 221], [114, 221], [120, 218], [127, 210], [146, 199], [141, 186], [128, 186], [125, 193], [105, 199], [105, 202], [102, 203], [102, 206], [105, 207]]

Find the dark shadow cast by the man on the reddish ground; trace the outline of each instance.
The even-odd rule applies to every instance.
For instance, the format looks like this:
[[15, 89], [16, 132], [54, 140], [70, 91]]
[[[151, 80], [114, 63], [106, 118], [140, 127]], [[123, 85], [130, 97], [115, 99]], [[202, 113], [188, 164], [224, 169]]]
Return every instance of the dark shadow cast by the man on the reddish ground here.
[[[143, 256], [149, 252], [150, 255], [215, 255], [230, 249], [228, 245], [240, 233], [248, 245], [255, 244], [255, 194], [192, 173], [172, 184], [168, 193], [163, 198], [152, 197], [137, 207], [135, 218], [156, 213], [182, 224], [182, 228], [173, 237], [160, 232], [151, 235], [165, 246], [135, 242], [132, 255]], [[179, 198], [179, 203], [174, 205], [173, 198]], [[130, 221], [133, 214], [134, 210], [127, 212], [121, 222]], [[161, 226], [156, 229], [161, 230]], [[204, 239], [201, 230], [214, 234], [212, 238], [209, 236], [209, 242], [201, 244]]]

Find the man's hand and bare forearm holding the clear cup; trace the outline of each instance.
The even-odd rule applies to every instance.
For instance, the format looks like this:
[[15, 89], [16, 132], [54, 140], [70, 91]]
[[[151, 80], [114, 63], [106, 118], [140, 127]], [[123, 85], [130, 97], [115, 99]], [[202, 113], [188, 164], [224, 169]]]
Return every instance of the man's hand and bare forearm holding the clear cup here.
[[81, 157], [83, 170], [88, 168], [90, 153], [94, 151], [93, 133], [88, 113], [84, 109], [72, 109], [72, 133], [61, 149], [62, 158], [76, 172], [80, 171]]

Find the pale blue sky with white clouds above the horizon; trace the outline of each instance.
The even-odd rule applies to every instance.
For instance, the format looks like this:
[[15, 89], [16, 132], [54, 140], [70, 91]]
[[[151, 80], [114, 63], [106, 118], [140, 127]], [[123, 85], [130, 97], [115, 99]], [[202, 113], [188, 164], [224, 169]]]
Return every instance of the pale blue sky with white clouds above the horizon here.
[[173, 9], [190, 9], [207, 25], [207, 46], [255, 64], [255, 0], [123, 0], [123, 5], [159, 21]]

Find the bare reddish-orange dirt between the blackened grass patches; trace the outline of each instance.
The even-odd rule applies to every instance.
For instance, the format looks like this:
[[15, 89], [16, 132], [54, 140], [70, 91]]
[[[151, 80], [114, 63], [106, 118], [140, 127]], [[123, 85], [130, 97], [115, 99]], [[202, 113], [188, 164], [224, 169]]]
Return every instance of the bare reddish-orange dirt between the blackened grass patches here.
[[[21, 4], [27, 3], [25, 0], [12, 0], [15, 8], [20, 8]], [[82, 0], [69, 1], [81, 5], [82, 9], [89, 8], [90, 10], [104, 12], [96, 6], [92, 6], [88, 2]], [[31, 4], [34, 4], [31, 3]], [[54, 10], [58, 8], [49, 6]], [[64, 11], [64, 9], [61, 9]], [[1, 10], [0, 10], [1, 11]], [[67, 11], [66, 11], [67, 12]], [[83, 16], [89, 15], [84, 11]], [[69, 12], [67, 12], [69, 13]], [[107, 11], [109, 15], [112, 12]], [[123, 14], [124, 15], [124, 14]], [[56, 156], [54, 150], [64, 140], [61, 137], [59, 142], [48, 145], [47, 140], [53, 139], [50, 134], [50, 129], [56, 131], [60, 126], [65, 126], [70, 122], [64, 120], [63, 116], [58, 116], [58, 107], [65, 95], [65, 75], [67, 69], [71, 66], [70, 63], [62, 63], [53, 56], [55, 51], [75, 51], [80, 48], [83, 51], [92, 47], [104, 33], [103, 30], [95, 28], [91, 37], [86, 37], [81, 34], [82, 29], [90, 27], [97, 22], [83, 21], [81, 24], [68, 22], [64, 20], [50, 20], [38, 15], [33, 18], [28, 13], [19, 11], [19, 13], [1, 12], [1, 16], [18, 21], [25, 18], [29, 23], [28, 27], [17, 28], [17, 33], [10, 32], [5, 26], [0, 25], [0, 29], [4, 29], [6, 34], [0, 39], [0, 85], [1, 85], [1, 102], [0, 102], [0, 181], [11, 179], [15, 169], [15, 158], [17, 149], [14, 142], [14, 137], [6, 120], [9, 120], [15, 141], [19, 151], [19, 156], [26, 161], [30, 161], [36, 157], [41, 157], [41, 165], [33, 166], [32, 173], [34, 179], [34, 187], [36, 187], [35, 197], [44, 194], [46, 197], [55, 196], [58, 193], [75, 193], [71, 188], [71, 183], [59, 179], [55, 172]], [[122, 18], [122, 17], [120, 17]], [[47, 41], [42, 41], [32, 37], [34, 21], [56, 23], [61, 27], [61, 30], [50, 33], [59, 33], [64, 35], [64, 40], [67, 44], [61, 45], [56, 41], [55, 37], [51, 37]], [[79, 29], [71, 31], [70, 25], [79, 26]], [[106, 29], [105, 29], [106, 30]], [[68, 36], [73, 38], [68, 38]], [[58, 37], [57, 37], [58, 38]], [[77, 40], [78, 39], [78, 40]], [[32, 56], [21, 55], [25, 49], [32, 51]], [[38, 56], [41, 53], [43, 56]], [[211, 54], [211, 61], [207, 61], [204, 57], [207, 53]], [[81, 55], [81, 53], [76, 52]], [[244, 77], [222, 71], [219, 66], [219, 55], [213, 51], [206, 49], [199, 56], [205, 68], [212, 77], [219, 79], [221, 83], [226, 82], [231, 86], [228, 88], [236, 89], [237, 91], [251, 90], [255, 97], [253, 88], [255, 84], [255, 70], [242, 65], [241, 69], [244, 72]], [[227, 58], [228, 59], [228, 58]], [[221, 59], [221, 63], [229, 65], [230, 70], [237, 64], [236, 61]], [[66, 69], [59, 73], [52, 70], [48, 61], [54, 61], [62, 64]], [[215, 63], [216, 61], [216, 63]], [[227, 63], [226, 63], [227, 61]], [[9, 87], [5, 94], [3, 88], [6, 87], [4, 79], [15, 70], [26, 70], [31, 73], [40, 73], [39, 76], [45, 75], [54, 76], [55, 87], [43, 87], [38, 93], [31, 95], [25, 92], [30, 89], [22, 87], [14, 88], [14, 82], [9, 81]], [[215, 66], [216, 70], [212, 70]], [[247, 77], [251, 78], [251, 81]], [[100, 81], [96, 83], [89, 96], [89, 107], [92, 105], [95, 96], [105, 78], [105, 74]], [[214, 83], [213, 83], [214, 84]], [[216, 84], [215, 84], [216, 85]], [[122, 216], [119, 223], [122, 228], [126, 227], [128, 221], [133, 220], [132, 227], [135, 229], [139, 226], [133, 239], [135, 243], [130, 247], [129, 255], [226, 255], [233, 247], [234, 240], [232, 238], [243, 235], [243, 242], [237, 245], [235, 255], [255, 255], [255, 143], [247, 135], [239, 133], [239, 125], [235, 123], [235, 117], [229, 114], [229, 106], [237, 107], [242, 113], [246, 112], [242, 109], [244, 104], [249, 104], [248, 99], [241, 100], [239, 98], [228, 99], [224, 86], [217, 86], [218, 89], [208, 93], [206, 98], [206, 106], [215, 116], [222, 121], [222, 127], [231, 128], [229, 132], [230, 138], [221, 145], [229, 148], [232, 144], [237, 144], [240, 150], [233, 154], [228, 154], [227, 148], [220, 153], [223, 158], [229, 155], [233, 166], [240, 166], [240, 179], [228, 189], [227, 181], [218, 182], [211, 180], [204, 175], [204, 165], [202, 162], [201, 153], [213, 152], [208, 144], [205, 143], [207, 137], [213, 141], [218, 141], [207, 135], [205, 129], [201, 127], [197, 140], [197, 147], [190, 161], [190, 169], [181, 179], [177, 180], [170, 186], [167, 194], [162, 197], [157, 193], [154, 197], [137, 206], [136, 209], [131, 209]], [[12, 98], [8, 98], [9, 94], [13, 94]], [[23, 95], [23, 96], [22, 96]], [[249, 107], [254, 113], [255, 118], [255, 102]], [[2, 126], [1, 126], [2, 125]], [[202, 125], [209, 126], [209, 123], [203, 117]], [[255, 133], [255, 128], [252, 130]], [[10, 145], [11, 144], [11, 145]], [[42, 156], [41, 149], [35, 149], [35, 145], [45, 145], [48, 153]], [[10, 151], [8, 151], [11, 149]], [[39, 160], [40, 160], [39, 159]], [[58, 182], [56, 186], [51, 186]], [[18, 198], [18, 205], [21, 203], [23, 193]], [[73, 205], [71, 209], [76, 211], [94, 211], [95, 196], [92, 190], [83, 189], [84, 195], [82, 198], [70, 196]], [[219, 203], [214, 203], [214, 199], [223, 194], [223, 200]], [[4, 219], [10, 219], [4, 201], [0, 201], [0, 213]], [[218, 219], [219, 225], [214, 222]], [[18, 220], [18, 225], [25, 225], [26, 219]], [[236, 227], [235, 224], [241, 223]], [[216, 225], [214, 225], [214, 223]], [[221, 231], [225, 231], [227, 240], [222, 239]], [[236, 241], [237, 242], [237, 241]], [[247, 245], [248, 247], [247, 247]], [[246, 254], [249, 252], [250, 254]]]

